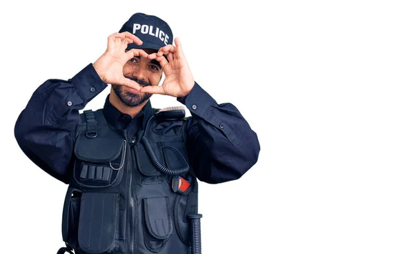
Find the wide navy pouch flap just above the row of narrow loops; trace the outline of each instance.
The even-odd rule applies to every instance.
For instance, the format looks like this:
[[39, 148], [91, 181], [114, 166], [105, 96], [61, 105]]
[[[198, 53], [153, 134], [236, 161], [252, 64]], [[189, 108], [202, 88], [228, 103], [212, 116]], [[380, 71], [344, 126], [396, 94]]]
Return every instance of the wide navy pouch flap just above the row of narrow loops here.
[[89, 138], [80, 135], [75, 142], [75, 155], [88, 162], [110, 162], [121, 155], [124, 139], [110, 137]]

